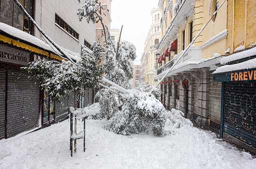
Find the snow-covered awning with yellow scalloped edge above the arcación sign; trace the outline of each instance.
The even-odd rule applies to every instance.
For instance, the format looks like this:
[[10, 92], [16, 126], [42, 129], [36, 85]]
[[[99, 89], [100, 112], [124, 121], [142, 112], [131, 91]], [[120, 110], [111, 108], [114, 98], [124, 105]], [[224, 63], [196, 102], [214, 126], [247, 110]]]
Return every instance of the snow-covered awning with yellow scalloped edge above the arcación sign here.
[[[17, 43], [15, 43], [14, 45], [17, 45], [18, 47], [22, 47], [22, 48], [25, 48], [25, 49], [28, 49], [28, 50], [31, 50], [31, 51], [35, 51], [37, 53], [41, 53], [41, 54], [44, 54], [44, 55], [49, 55], [48, 52], [46, 51], [42, 51], [40, 48], [43, 48], [44, 50], [48, 50], [48, 51], [51, 51], [52, 53], [55, 53], [57, 55], [61, 55], [61, 53], [56, 49], [56, 51], [51, 47], [51, 45], [47, 44], [46, 42], [44, 42], [43, 40], [40, 40], [39, 38], [25, 32], [25, 31], [22, 31], [22, 30], [19, 30], [13, 26], [10, 26], [8, 24], [5, 24], [3, 22], [0, 22], [0, 30], [5, 32], [6, 34], [9, 34], [13, 37], [17, 37], [21, 40], [24, 40], [25, 42], [28, 42], [29, 44], [35, 46], [36, 48], [39, 48], [39, 49], [36, 49], [34, 47], [31, 47], [30, 45], [22, 45], [23, 42], [21, 41], [17, 41]], [[6, 36], [4, 37], [1, 37], [0, 40], [3, 40], [5, 42], [9, 42], [9, 40], [6, 38]], [[10, 43], [11, 44], [11, 43]], [[73, 51], [70, 51], [64, 47], [61, 47], [65, 52], [65, 54], [69, 55], [72, 59], [74, 60], [77, 60], [79, 61], [81, 59], [81, 56], [79, 53], [76, 53], [76, 52], [73, 52]], [[49, 55], [50, 56], [50, 55]]]

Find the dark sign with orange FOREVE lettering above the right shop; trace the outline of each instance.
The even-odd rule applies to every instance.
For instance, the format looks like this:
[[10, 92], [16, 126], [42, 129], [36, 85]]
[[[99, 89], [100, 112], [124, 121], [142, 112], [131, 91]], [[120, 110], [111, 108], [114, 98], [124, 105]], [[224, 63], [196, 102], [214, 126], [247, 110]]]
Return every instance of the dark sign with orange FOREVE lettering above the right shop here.
[[246, 69], [235, 72], [214, 74], [214, 81], [256, 80], [256, 70]]

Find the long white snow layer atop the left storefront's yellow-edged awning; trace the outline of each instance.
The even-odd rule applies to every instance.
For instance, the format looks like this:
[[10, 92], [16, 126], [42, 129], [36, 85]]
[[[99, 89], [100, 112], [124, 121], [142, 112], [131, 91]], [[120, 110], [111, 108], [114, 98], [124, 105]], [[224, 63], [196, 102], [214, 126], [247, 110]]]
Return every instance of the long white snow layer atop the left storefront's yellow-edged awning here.
[[[39, 38], [25, 32], [25, 31], [22, 31], [20, 29], [17, 29], [13, 26], [10, 26], [8, 24], [5, 24], [3, 22], [0, 22], [0, 30], [12, 35], [12, 36], [15, 36], [15, 37], [18, 37], [22, 40], [25, 40], [25, 41], [28, 41], [32, 44], [35, 44], [36, 46], [39, 46], [39, 47], [42, 47], [44, 48], [45, 50], [50, 50], [52, 51], [53, 53], [58, 53], [59, 55], [61, 54], [57, 49], [56, 51], [51, 47], [51, 45], [47, 44], [46, 42], [44, 42], [43, 40], [40, 40]], [[65, 54], [68, 54], [71, 58], [75, 59], [75, 60], [80, 60], [80, 54], [79, 53], [76, 53], [76, 52], [73, 52], [71, 50], [68, 50], [62, 46], [60, 46], [61, 49], [64, 50]]]

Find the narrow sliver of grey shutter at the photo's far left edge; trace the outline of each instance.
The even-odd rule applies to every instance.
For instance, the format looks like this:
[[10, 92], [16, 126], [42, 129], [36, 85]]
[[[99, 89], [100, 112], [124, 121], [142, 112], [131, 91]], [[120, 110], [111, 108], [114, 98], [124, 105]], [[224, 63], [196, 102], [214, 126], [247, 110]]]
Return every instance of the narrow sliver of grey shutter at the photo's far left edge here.
[[6, 70], [0, 69], [0, 139], [5, 138]]

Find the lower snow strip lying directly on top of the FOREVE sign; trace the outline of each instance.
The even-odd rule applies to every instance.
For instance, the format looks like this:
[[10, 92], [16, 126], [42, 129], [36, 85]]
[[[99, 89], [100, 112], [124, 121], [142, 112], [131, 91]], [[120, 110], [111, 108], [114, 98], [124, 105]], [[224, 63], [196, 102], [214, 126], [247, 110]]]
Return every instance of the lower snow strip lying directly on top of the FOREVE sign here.
[[217, 68], [213, 74], [215, 73], [222, 73], [222, 72], [228, 72], [228, 71], [235, 71], [235, 70], [243, 70], [243, 69], [250, 69], [256, 67], [256, 58], [243, 61], [241, 63], [237, 64], [231, 64], [231, 65], [223, 65], [219, 68]]

